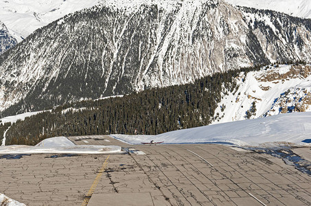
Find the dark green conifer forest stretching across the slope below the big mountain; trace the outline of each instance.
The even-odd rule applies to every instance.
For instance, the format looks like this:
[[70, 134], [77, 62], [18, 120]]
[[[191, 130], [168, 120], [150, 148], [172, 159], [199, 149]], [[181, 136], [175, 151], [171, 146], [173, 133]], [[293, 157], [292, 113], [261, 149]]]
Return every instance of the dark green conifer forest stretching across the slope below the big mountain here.
[[[51, 111], [26, 117], [12, 124], [6, 145], [35, 145], [56, 136], [160, 133], [205, 126], [214, 118], [222, 87], [235, 91], [235, 77], [241, 71], [215, 73], [191, 84], [148, 89], [123, 98], [72, 102]], [[5, 127], [5, 128], [4, 128]], [[5, 130], [8, 125], [0, 126]]]

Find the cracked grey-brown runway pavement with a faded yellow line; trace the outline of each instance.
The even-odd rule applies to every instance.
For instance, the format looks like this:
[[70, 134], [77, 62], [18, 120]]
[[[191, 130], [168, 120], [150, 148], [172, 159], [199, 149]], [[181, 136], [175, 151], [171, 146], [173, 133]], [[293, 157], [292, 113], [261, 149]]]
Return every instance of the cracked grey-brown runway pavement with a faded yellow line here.
[[213, 144], [69, 139], [128, 153], [0, 159], [0, 193], [26, 205], [311, 205], [311, 176], [270, 155]]

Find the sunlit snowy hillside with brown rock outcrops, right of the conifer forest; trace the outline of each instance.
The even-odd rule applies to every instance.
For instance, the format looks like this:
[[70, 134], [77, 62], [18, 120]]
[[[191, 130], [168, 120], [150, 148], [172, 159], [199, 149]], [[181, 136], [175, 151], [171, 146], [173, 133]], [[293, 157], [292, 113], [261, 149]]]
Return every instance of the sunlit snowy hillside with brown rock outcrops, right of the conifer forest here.
[[310, 65], [263, 67], [246, 76], [241, 73], [236, 81], [235, 91], [224, 88], [214, 124], [311, 111]]

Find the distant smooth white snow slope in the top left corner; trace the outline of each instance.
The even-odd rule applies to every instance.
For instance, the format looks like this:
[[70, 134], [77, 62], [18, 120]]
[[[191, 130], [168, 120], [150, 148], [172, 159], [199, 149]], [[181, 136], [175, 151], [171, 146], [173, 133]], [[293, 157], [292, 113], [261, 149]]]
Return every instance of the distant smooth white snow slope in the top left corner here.
[[102, 0], [0, 0], [0, 21], [17, 41], [66, 14], [91, 8]]

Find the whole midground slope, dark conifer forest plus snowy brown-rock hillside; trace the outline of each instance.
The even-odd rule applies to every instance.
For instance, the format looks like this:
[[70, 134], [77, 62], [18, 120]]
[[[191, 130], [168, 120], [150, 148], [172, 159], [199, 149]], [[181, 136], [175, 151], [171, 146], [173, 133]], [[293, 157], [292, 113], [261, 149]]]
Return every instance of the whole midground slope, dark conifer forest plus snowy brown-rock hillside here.
[[[310, 65], [258, 69], [215, 73], [191, 84], [149, 89], [122, 98], [65, 104], [23, 121], [1, 124], [0, 135], [5, 133], [6, 144], [34, 145], [56, 136], [156, 135], [205, 126], [218, 120], [246, 119], [246, 111], [250, 113], [249, 118], [311, 111]], [[283, 93], [281, 89], [288, 90]], [[21, 117], [26, 115], [30, 113]], [[15, 121], [19, 117], [3, 118], [3, 121]], [[236, 125], [243, 123], [231, 124]], [[307, 124], [305, 126], [308, 128]], [[238, 135], [244, 133], [244, 130], [236, 130]], [[268, 131], [265, 134], [268, 135]]]

